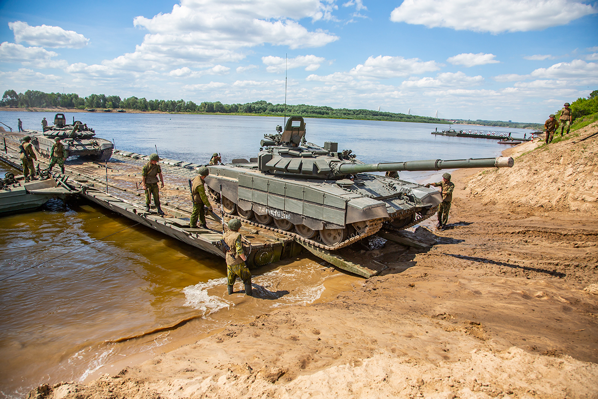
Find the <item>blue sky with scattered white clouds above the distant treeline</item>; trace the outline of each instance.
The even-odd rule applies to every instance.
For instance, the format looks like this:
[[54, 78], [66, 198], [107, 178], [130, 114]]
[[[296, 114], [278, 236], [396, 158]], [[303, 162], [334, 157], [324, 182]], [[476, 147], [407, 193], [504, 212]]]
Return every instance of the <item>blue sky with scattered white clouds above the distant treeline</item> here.
[[598, 89], [597, 1], [0, 0], [0, 43], [1, 93], [543, 123]]

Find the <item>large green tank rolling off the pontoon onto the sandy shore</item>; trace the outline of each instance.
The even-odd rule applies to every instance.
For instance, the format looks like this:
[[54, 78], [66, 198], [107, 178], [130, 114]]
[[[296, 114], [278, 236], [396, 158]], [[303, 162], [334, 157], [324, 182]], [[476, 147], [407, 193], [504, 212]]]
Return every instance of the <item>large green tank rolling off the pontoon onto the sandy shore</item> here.
[[264, 135], [256, 158], [208, 166], [208, 191], [225, 214], [334, 250], [434, 215], [440, 191], [399, 179], [398, 171], [513, 165], [510, 157], [366, 164], [335, 142], [307, 143], [305, 126], [291, 117], [284, 130]]

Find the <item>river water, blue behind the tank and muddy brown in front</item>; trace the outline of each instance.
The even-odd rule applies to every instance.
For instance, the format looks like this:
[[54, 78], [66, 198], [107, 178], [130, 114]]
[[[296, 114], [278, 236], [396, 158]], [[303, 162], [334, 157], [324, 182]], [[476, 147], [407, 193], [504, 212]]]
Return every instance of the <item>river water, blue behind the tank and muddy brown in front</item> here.
[[[67, 113], [121, 150], [205, 163], [255, 156], [283, 118]], [[0, 121], [41, 127], [50, 112], [0, 112]], [[338, 142], [364, 162], [493, 157], [495, 140], [435, 136], [448, 125], [312, 119], [307, 141]], [[459, 127], [453, 126], [457, 130]], [[471, 129], [471, 126], [467, 127]], [[529, 130], [495, 129], [523, 136]], [[0, 175], [10, 170], [0, 164]], [[416, 181], [434, 172], [404, 172]], [[165, 176], [167, 180], [167, 176]], [[258, 298], [225, 294], [221, 258], [84, 202], [52, 201], [0, 217], [0, 398], [41, 383], [86, 381], [280, 306], [334, 297], [362, 281], [302, 257], [253, 270]], [[25, 269], [25, 272], [22, 272]], [[17, 275], [15, 273], [22, 272]], [[236, 291], [241, 290], [237, 282]], [[152, 333], [153, 331], [153, 333]], [[123, 340], [127, 337], [136, 337]], [[117, 342], [121, 341], [121, 342]]]

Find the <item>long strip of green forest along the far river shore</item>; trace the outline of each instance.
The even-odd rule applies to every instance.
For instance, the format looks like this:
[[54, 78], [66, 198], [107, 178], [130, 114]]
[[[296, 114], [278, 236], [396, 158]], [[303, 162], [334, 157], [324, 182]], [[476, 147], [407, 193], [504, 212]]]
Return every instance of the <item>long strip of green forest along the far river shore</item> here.
[[[371, 109], [331, 108], [329, 106], [314, 105], [284, 105], [273, 104], [264, 100], [248, 102], [245, 104], [223, 104], [216, 102], [202, 102], [199, 105], [193, 101], [185, 100], [147, 100], [145, 98], [129, 97], [121, 100], [120, 96], [106, 96], [92, 94], [80, 97], [76, 93], [44, 93], [38, 90], [27, 90], [17, 93], [7, 90], [2, 96], [0, 106], [16, 106], [19, 108], [50, 108], [60, 106], [63, 108], [77, 109], [138, 109], [139, 111], [160, 111], [189, 114], [237, 114], [237, 115], [264, 115], [283, 116], [301, 115], [306, 118], [337, 118], [383, 120], [399, 122], [422, 123], [460, 123], [461, 121], [445, 120], [418, 115], [395, 114], [393, 112], [373, 111]], [[286, 108], [286, 110], [285, 110]], [[504, 121], [462, 121], [463, 123], [478, 123], [486, 126], [504, 126], [539, 129], [538, 123], [517, 123]]]

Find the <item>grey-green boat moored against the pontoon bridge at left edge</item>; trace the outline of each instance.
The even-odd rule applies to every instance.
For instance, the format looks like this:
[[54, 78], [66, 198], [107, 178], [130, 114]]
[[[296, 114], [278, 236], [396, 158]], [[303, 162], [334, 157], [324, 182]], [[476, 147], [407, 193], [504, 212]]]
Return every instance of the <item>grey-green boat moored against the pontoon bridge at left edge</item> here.
[[0, 182], [0, 215], [32, 211], [53, 198], [65, 199], [68, 194], [76, 193], [58, 187], [53, 178], [25, 182], [23, 179], [14, 179], [12, 173], [7, 173]]

